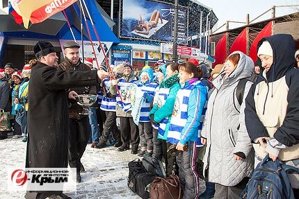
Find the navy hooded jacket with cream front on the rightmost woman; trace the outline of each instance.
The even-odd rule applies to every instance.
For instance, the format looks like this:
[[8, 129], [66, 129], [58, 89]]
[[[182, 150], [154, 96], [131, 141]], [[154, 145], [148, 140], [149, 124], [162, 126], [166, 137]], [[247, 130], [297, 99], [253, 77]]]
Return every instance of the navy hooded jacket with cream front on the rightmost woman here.
[[[257, 81], [251, 87], [250, 92], [246, 98], [245, 108], [245, 124], [248, 129], [250, 139], [254, 142], [259, 137], [269, 137], [267, 125], [265, 123], [273, 123], [277, 126], [274, 132], [274, 137], [280, 143], [286, 146], [293, 146], [299, 143], [299, 70], [294, 68], [295, 60], [293, 55], [295, 53], [293, 37], [291, 35], [279, 34], [262, 39], [262, 42], [267, 40], [273, 49], [273, 65], [269, 71], [264, 73], [264, 76], [259, 76]], [[282, 86], [281, 81], [286, 84], [286, 89], [279, 90]], [[262, 86], [266, 87], [266, 97], [262, 100], [259, 97], [259, 92]], [[289, 89], [289, 91], [287, 90]], [[282, 96], [286, 92], [286, 96]], [[285, 97], [285, 99], [284, 99]], [[254, 101], [259, 98], [259, 101]], [[275, 104], [281, 105], [285, 103], [282, 110], [279, 107], [269, 107], [269, 104], [275, 101]], [[256, 106], [261, 106], [262, 114], [257, 114], [259, 110]], [[286, 111], [280, 125], [274, 123], [277, 120], [276, 114], [272, 114], [272, 110], [277, 108], [277, 114]], [[279, 112], [280, 110], [280, 112]], [[268, 115], [269, 114], [269, 115]], [[262, 121], [260, 116], [268, 115], [267, 121]], [[269, 121], [273, 120], [273, 121]]]

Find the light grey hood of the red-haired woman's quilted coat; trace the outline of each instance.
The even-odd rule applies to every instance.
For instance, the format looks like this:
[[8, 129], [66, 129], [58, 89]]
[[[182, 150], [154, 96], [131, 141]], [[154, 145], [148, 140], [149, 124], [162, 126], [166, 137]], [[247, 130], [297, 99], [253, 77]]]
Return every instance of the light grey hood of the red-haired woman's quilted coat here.
[[[232, 85], [236, 83], [236, 81], [241, 80], [243, 78], [250, 78], [254, 68], [254, 63], [252, 59], [248, 57], [248, 55], [245, 55], [241, 51], [234, 51], [232, 54], [234, 53], [239, 53], [240, 60], [238, 65], [236, 66], [236, 69], [234, 69], [234, 71], [230, 73], [227, 79], [225, 80], [226, 86]], [[223, 78], [225, 78], [224, 69], [225, 67], [223, 67], [223, 69], [221, 70], [220, 75], [218, 75], [212, 81], [213, 85], [218, 89], [223, 84]]]

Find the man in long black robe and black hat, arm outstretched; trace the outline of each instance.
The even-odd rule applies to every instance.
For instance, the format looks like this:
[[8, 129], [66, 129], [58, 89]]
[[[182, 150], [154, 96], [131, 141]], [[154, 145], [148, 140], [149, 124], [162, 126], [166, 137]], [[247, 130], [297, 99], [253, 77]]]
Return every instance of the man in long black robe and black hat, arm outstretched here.
[[[49, 42], [34, 46], [38, 62], [31, 71], [29, 83], [28, 126], [29, 139], [26, 168], [67, 168], [67, 141], [69, 137], [68, 98], [70, 87], [96, 85], [105, 78], [103, 71], [70, 72], [57, 71], [54, 65], [58, 57]], [[55, 196], [51, 196], [55, 195]], [[25, 198], [70, 198], [62, 191], [27, 192]]]

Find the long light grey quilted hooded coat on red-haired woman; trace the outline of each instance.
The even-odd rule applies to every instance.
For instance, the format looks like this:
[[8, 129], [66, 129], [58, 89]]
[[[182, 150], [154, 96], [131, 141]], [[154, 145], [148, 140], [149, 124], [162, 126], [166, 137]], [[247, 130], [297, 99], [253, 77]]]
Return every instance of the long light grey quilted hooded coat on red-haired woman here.
[[[254, 150], [245, 127], [245, 97], [252, 85], [245, 85], [243, 103], [236, 98], [236, 86], [242, 78], [249, 78], [254, 67], [253, 61], [240, 54], [236, 69], [225, 78], [222, 71], [213, 80], [213, 90], [204, 119], [202, 137], [207, 138], [207, 150], [204, 155], [204, 168], [209, 169], [209, 182], [233, 187], [252, 174]], [[224, 70], [224, 68], [223, 68]], [[234, 155], [243, 157], [237, 161]]]

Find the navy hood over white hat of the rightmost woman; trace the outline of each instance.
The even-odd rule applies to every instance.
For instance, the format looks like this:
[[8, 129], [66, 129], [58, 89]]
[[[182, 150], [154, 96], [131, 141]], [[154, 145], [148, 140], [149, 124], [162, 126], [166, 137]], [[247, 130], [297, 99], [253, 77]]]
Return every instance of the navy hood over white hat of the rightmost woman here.
[[293, 37], [289, 34], [277, 34], [270, 37], [264, 37], [257, 44], [257, 50], [264, 41], [268, 41], [273, 50], [273, 64], [266, 73], [268, 82], [274, 82], [282, 78], [286, 71], [295, 66], [294, 53], [295, 43]]

